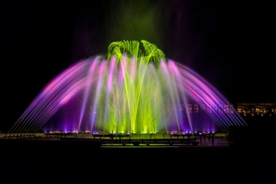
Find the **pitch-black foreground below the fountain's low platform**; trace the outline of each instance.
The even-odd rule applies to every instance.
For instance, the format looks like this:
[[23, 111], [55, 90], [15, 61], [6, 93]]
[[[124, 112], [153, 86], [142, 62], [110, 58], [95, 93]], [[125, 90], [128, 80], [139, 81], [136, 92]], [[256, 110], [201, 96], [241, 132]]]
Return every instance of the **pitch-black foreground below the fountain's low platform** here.
[[0, 140], [0, 180], [24, 183], [267, 183], [274, 145], [98, 147], [92, 142]]

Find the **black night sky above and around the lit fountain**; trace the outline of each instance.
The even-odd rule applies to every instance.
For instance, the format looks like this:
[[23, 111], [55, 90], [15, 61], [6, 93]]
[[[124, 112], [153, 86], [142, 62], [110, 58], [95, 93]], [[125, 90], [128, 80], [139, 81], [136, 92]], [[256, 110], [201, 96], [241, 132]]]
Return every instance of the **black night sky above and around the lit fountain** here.
[[220, 0], [2, 4], [0, 128], [13, 124], [55, 75], [123, 39], [155, 43], [233, 104], [275, 102], [273, 7]]

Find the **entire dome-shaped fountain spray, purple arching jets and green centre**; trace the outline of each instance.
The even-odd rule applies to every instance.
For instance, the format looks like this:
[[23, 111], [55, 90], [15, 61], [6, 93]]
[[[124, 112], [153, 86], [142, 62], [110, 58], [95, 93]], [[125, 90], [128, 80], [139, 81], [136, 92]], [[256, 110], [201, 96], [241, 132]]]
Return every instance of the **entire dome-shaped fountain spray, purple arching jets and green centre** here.
[[[54, 78], [10, 132], [227, 132], [245, 124], [205, 79], [147, 41], [118, 41], [106, 59], [89, 58]], [[192, 121], [201, 105], [209, 119]], [[195, 110], [193, 108], [193, 110]], [[197, 108], [197, 111], [199, 108]]]

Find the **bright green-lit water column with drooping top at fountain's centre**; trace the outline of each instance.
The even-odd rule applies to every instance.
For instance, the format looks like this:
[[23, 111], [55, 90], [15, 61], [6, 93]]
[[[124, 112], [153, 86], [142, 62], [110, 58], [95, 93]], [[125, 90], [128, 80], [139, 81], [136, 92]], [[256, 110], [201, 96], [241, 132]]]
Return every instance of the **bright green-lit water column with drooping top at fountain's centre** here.
[[[118, 41], [108, 47], [107, 63], [110, 70], [107, 71], [109, 76], [105, 79], [107, 88], [98, 91], [104, 98], [94, 99], [97, 101], [94, 109], [96, 110], [97, 106], [105, 112], [98, 116], [98, 123], [96, 122], [96, 126], [104, 132], [106, 129], [108, 132], [155, 133], [158, 124], [165, 119], [160, 113], [156, 113], [157, 110], [162, 112], [159, 107], [164, 106], [164, 99], [160, 97], [165, 95], [162, 94], [164, 90], [159, 81], [160, 72], [156, 67], [165, 61], [165, 54], [154, 44], [145, 40], [141, 43], [141, 48], [138, 41]], [[118, 69], [120, 72], [116, 73]], [[113, 75], [117, 80], [114, 80]], [[152, 80], [156, 77], [159, 79]], [[115, 86], [119, 87], [119, 90]], [[119, 96], [120, 93], [123, 98]], [[98, 93], [96, 96], [98, 97]], [[163, 111], [163, 114], [167, 113]], [[101, 127], [101, 122], [104, 122], [104, 127]], [[94, 123], [95, 116], [92, 115], [91, 127], [94, 127]]]

